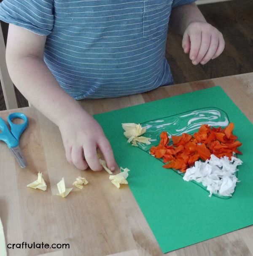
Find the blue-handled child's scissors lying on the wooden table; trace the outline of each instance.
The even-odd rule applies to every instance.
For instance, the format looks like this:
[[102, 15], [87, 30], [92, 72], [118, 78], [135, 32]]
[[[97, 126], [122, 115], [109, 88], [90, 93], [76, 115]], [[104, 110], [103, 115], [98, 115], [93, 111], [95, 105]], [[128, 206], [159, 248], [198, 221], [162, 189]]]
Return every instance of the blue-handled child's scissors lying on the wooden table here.
[[[24, 123], [15, 124], [12, 122], [14, 118], [20, 118], [24, 120]], [[23, 113], [12, 113], [8, 115], [7, 121], [10, 125], [10, 130], [3, 118], [0, 117], [0, 131], [2, 131], [0, 132], [0, 140], [8, 145], [12, 153], [15, 155], [16, 160], [19, 162], [19, 165], [24, 168], [27, 166], [27, 162], [19, 147], [19, 137], [21, 136], [25, 128], [27, 128], [27, 116]]]

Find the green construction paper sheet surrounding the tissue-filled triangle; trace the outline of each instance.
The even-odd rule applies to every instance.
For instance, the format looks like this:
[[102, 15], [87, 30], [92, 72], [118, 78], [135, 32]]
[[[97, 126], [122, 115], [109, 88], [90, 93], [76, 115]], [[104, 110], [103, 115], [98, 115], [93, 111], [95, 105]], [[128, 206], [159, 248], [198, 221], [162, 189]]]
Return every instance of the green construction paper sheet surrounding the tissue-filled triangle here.
[[[242, 142], [236, 191], [229, 199], [186, 182], [164, 169], [159, 159], [126, 143], [121, 123], [147, 123], [194, 109], [218, 108], [235, 124], [233, 133]], [[161, 250], [173, 251], [253, 224], [253, 124], [221, 87], [165, 98], [159, 101], [94, 116], [102, 126], [117, 163], [127, 167], [129, 187]], [[120, 191], [117, 191], [120, 193]], [[126, 202], [127, 203], [127, 202]]]

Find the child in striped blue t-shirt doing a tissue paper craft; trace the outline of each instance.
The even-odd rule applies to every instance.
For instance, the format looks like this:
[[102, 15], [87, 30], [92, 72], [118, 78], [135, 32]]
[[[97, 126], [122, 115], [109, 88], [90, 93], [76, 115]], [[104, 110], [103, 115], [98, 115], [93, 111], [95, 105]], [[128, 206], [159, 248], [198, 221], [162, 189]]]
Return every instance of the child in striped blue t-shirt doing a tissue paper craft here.
[[[75, 100], [143, 93], [173, 84], [164, 57], [167, 28], [183, 35], [194, 65], [223, 52], [222, 34], [195, 0], [3, 0], [10, 23], [6, 62], [30, 103], [58, 125], [67, 161], [79, 169], [116, 168], [102, 128]], [[84, 155], [84, 158], [83, 158]]]

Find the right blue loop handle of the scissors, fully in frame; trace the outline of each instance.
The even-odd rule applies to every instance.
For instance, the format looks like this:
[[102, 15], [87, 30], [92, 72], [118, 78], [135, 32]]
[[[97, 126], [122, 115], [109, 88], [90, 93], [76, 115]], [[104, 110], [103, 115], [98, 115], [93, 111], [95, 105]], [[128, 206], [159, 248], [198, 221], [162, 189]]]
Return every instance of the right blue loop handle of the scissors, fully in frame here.
[[[22, 120], [24, 120], [24, 123], [22, 124], [15, 124], [12, 122], [12, 120], [14, 118], [21, 118]], [[8, 123], [11, 127], [11, 133], [13, 134], [13, 136], [16, 138], [17, 141], [19, 141], [19, 137], [20, 135], [23, 133], [24, 129], [27, 128], [28, 125], [28, 118], [25, 114], [23, 113], [11, 113], [8, 115]]]

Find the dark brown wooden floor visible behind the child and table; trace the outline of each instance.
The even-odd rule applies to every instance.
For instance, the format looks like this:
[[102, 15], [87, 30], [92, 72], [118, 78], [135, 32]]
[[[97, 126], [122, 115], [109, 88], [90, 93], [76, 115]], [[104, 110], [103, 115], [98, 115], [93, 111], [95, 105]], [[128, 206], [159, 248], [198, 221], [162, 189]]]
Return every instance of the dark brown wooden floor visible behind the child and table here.
[[[205, 65], [194, 66], [183, 53], [182, 38], [169, 30], [166, 57], [170, 63], [175, 83], [211, 79], [221, 76], [253, 72], [253, 1], [234, 0], [199, 5], [207, 21], [217, 27], [224, 36], [223, 54]], [[5, 37], [8, 27], [2, 24]], [[18, 105], [28, 106], [16, 90]], [[0, 87], [0, 110], [5, 109]]]

